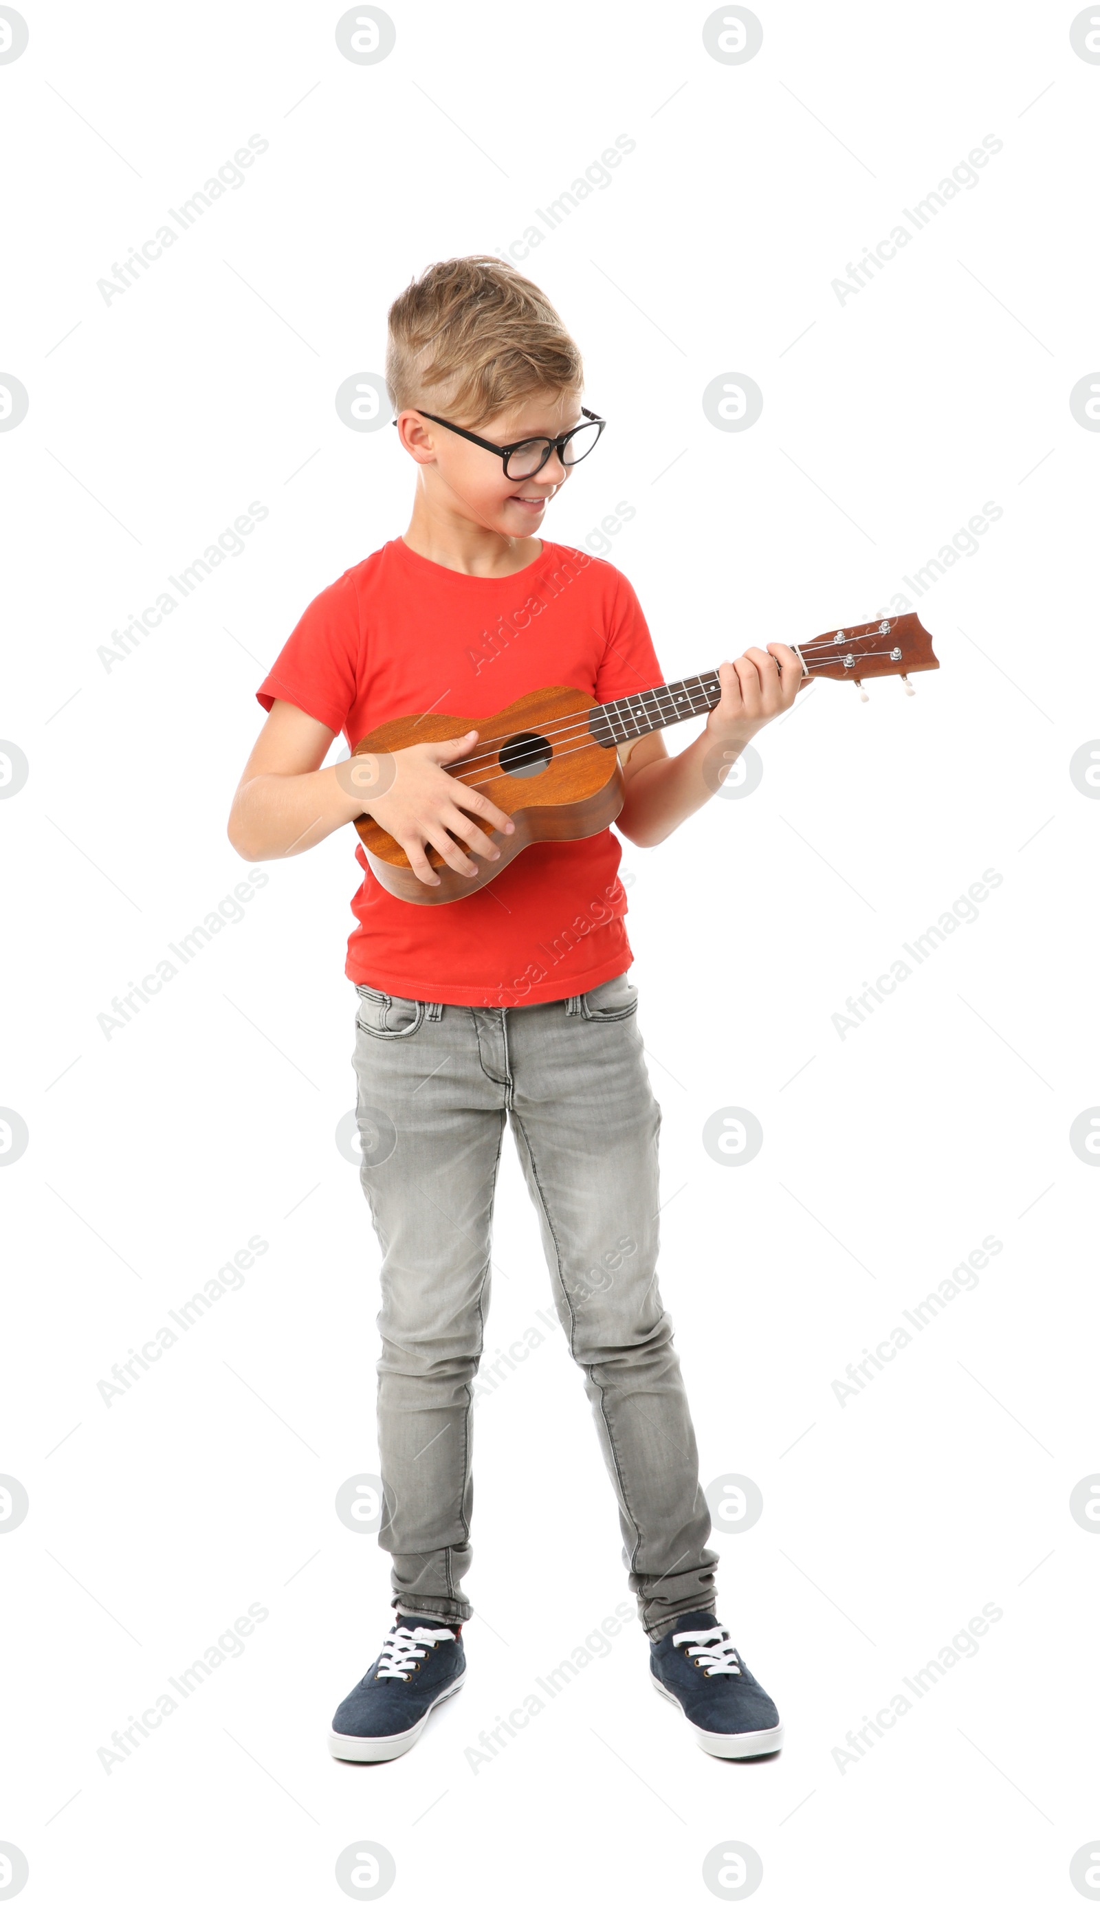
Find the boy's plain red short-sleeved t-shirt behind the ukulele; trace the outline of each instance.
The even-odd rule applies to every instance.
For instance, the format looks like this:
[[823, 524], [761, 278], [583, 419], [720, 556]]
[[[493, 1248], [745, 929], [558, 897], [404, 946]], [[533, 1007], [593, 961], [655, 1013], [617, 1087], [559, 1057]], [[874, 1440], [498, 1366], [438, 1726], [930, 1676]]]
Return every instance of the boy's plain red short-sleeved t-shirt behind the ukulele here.
[[[597, 702], [663, 675], [639, 599], [610, 563], [543, 542], [513, 576], [463, 576], [398, 536], [309, 605], [257, 688], [355, 744], [397, 715], [446, 707], [471, 728], [549, 685]], [[538, 841], [477, 894], [437, 908], [397, 900], [372, 875], [351, 902], [349, 980], [456, 1007], [566, 999], [631, 965], [610, 828]]]

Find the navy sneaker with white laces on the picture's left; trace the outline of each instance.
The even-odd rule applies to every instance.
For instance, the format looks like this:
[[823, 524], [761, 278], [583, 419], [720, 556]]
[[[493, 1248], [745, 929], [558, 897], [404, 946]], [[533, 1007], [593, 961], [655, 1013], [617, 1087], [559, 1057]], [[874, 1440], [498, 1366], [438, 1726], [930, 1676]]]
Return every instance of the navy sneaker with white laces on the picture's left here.
[[377, 1661], [332, 1718], [330, 1754], [341, 1762], [395, 1760], [463, 1682], [461, 1623], [446, 1629], [431, 1615], [398, 1615]]

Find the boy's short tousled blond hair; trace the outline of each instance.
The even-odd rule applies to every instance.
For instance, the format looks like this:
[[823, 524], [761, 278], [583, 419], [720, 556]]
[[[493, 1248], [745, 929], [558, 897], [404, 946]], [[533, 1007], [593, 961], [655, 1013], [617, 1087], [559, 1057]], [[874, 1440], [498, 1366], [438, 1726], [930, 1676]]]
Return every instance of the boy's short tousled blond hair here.
[[446, 404], [479, 425], [520, 397], [581, 385], [581, 355], [549, 297], [503, 259], [429, 265], [389, 307], [385, 387], [397, 412]]

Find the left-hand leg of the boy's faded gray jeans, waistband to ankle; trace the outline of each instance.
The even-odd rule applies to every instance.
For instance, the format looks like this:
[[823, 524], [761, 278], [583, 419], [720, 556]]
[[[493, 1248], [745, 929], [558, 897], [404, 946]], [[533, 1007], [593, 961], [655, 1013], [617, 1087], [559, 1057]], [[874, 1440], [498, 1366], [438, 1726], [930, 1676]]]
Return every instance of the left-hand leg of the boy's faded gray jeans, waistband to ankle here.
[[397, 1610], [461, 1623], [503, 1089], [480, 1066], [467, 1007], [368, 990], [355, 1072], [360, 1180], [383, 1249], [377, 1541], [393, 1556]]

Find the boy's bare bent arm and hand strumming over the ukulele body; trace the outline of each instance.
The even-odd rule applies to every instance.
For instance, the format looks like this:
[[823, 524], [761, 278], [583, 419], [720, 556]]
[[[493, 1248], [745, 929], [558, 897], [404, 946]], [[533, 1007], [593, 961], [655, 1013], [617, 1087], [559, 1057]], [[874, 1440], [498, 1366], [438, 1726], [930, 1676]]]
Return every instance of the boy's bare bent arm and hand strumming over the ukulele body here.
[[334, 740], [334, 728], [294, 702], [273, 702], [229, 810], [227, 835], [242, 860], [303, 854], [356, 814], [372, 814], [400, 841], [425, 887], [438, 887], [427, 843], [458, 873], [477, 873], [477, 862], [452, 835], [467, 841], [475, 854], [499, 860], [499, 851], [471, 816], [484, 816], [501, 833], [513, 833], [513, 822], [484, 795], [444, 774], [444, 763], [465, 755], [477, 732], [454, 742], [418, 742], [400, 755], [355, 755], [322, 769]]

